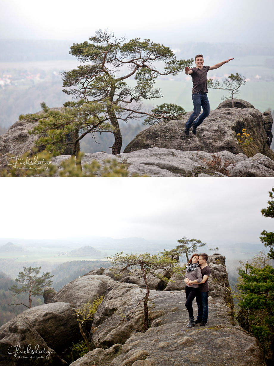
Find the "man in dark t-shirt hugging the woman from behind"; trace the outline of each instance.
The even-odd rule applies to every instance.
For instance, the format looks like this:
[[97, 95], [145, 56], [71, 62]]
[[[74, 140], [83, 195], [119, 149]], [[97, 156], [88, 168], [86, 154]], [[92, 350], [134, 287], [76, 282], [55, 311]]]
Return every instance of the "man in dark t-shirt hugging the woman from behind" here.
[[205, 326], [208, 322], [208, 276], [210, 275], [211, 269], [206, 264], [208, 260], [208, 255], [206, 253], [199, 254], [199, 265], [202, 273], [202, 281], [188, 281], [187, 285], [193, 285], [198, 283], [199, 292], [198, 296], [196, 296], [196, 302], [198, 306], [198, 315], [197, 320], [195, 320], [195, 324], [201, 323], [200, 326]]

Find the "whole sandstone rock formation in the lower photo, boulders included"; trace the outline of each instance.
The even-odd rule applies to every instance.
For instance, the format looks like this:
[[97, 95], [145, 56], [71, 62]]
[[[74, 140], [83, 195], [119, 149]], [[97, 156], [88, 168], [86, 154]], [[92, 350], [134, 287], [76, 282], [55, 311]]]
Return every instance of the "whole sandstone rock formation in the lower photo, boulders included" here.
[[[50, 352], [50, 361], [39, 365], [69, 363], [69, 343], [79, 339], [75, 306], [92, 300], [101, 291], [90, 335], [94, 350], [71, 363], [73, 366], [265, 366], [258, 340], [236, 325], [227, 290], [225, 257], [209, 257], [209, 319], [205, 327], [186, 328], [188, 313], [184, 290], [165, 288], [149, 294], [151, 328], [143, 333], [145, 290], [137, 284], [114, 281], [104, 274], [87, 275], [71, 281], [53, 300], [71, 295], [70, 303], [52, 302], [19, 314], [0, 328], [0, 366], [27, 366], [30, 361], [14, 360], [7, 349], [14, 344]], [[180, 264], [182, 265], [182, 264]], [[94, 270], [95, 271], [95, 270]], [[102, 269], [99, 269], [102, 273]], [[126, 279], [126, 277], [124, 277]], [[197, 306], [193, 303], [194, 314]], [[36, 362], [36, 361], [35, 361]]]

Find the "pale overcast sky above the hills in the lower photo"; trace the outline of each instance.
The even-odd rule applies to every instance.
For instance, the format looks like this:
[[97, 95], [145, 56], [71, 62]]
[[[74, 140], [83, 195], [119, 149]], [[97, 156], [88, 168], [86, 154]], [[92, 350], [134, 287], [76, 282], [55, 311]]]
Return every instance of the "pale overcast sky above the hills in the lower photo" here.
[[1, 179], [1, 238], [142, 237], [259, 243], [274, 178]]

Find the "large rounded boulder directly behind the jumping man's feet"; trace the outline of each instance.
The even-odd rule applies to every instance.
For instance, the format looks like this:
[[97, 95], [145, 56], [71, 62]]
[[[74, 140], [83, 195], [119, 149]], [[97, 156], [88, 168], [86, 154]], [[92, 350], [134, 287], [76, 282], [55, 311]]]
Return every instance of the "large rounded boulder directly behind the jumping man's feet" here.
[[[222, 102], [217, 109], [197, 128], [197, 135], [184, 133], [184, 124], [192, 112], [187, 112], [181, 120], [172, 120], [155, 124], [139, 134], [126, 146], [124, 153], [151, 147], [183, 151], [204, 151], [218, 153], [227, 150], [233, 154], [245, 153], [248, 157], [261, 153], [274, 160], [274, 152], [270, 149], [271, 113], [263, 114], [250, 103], [239, 100], [240, 108], [226, 108], [229, 101]], [[237, 102], [236, 102], [237, 104]], [[247, 107], [244, 108], [243, 105]], [[265, 118], [265, 120], [264, 120]], [[267, 120], [267, 122], [266, 122]], [[273, 122], [273, 121], [272, 121]], [[272, 126], [272, 124], [271, 124]], [[242, 150], [236, 134], [243, 128], [253, 138], [251, 144]]]

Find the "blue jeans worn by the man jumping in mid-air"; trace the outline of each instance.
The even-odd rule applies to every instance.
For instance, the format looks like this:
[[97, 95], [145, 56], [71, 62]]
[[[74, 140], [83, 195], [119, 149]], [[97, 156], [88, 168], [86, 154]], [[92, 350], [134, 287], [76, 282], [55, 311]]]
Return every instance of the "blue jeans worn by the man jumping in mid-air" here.
[[192, 94], [192, 100], [193, 100], [193, 113], [187, 120], [187, 123], [185, 124], [186, 129], [191, 127], [191, 123], [193, 123], [193, 121], [201, 113], [201, 106], [203, 108], [203, 113], [193, 123], [195, 127], [198, 127], [203, 122], [203, 120], [209, 116], [210, 113], [209, 100], [206, 94], [200, 94], [200, 93]]

